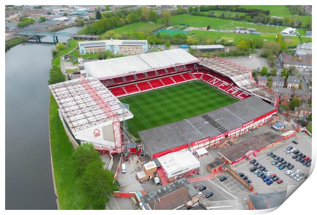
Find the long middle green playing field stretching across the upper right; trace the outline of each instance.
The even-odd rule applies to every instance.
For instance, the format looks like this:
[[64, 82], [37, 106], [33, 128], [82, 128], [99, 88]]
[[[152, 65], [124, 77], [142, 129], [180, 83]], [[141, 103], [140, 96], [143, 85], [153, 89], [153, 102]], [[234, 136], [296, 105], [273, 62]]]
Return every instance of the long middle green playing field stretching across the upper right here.
[[[157, 20], [157, 23], [162, 23], [161, 19]], [[215, 17], [207, 17], [207, 16], [194, 16], [189, 14], [180, 14], [175, 15], [170, 18], [170, 24], [173, 26], [179, 24], [186, 24], [190, 27], [207, 27], [210, 25], [212, 29], [223, 29], [229, 30], [234, 29], [235, 27], [244, 27], [244, 28], [254, 28], [256, 31], [259, 32], [266, 32], [266, 33], [280, 33], [286, 27], [271, 27], [265, 25], [253, 25], [248, 24], [245, 21], [238, 21], [238, 20], [230, 20], [224, 18], [215, 18]]]

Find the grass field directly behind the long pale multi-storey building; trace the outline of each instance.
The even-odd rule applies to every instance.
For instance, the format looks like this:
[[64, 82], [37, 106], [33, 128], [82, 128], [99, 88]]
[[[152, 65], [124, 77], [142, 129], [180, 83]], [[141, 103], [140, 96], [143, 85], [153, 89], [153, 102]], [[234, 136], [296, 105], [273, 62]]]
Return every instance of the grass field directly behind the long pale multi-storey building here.
[[[162, 23], [162, 22], [161, 22]], [[143, 31], [143, 32], [152, 32], [157, 28], [162, 26], [161, 23], [146, 23], [146, 22], [139, 22], [139, 23], [132, 23], [129, 25], [125, 25], [119, 28], [111, 29], [111, 31], [122, 34], [122, 33], [131, 33], [132, 31]]]

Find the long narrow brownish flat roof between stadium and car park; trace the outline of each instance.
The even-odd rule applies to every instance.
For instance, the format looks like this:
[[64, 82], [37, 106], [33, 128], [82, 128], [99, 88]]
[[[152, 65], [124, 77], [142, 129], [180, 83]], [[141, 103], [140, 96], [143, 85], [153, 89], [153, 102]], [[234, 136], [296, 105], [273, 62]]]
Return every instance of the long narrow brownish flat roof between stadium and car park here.
[[218, 153], [233, 162], [244, 157], [248, 152], [259, 150], [281, 139], [281, 135], [267, 132], [250, 139], [235, 142], [235, 144], [230, 147], [220, 148]]

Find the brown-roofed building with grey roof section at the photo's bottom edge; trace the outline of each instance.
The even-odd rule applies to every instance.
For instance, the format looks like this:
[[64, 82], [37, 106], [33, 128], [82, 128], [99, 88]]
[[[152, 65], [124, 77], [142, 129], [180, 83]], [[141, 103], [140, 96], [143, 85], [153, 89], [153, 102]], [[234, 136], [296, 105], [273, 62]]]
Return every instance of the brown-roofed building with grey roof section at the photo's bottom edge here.
[[186, 179], [154, 190], [141, 197], [143, 210], [175, 210], [182, 207], [191, 208], [199, 200], [198, 190]]

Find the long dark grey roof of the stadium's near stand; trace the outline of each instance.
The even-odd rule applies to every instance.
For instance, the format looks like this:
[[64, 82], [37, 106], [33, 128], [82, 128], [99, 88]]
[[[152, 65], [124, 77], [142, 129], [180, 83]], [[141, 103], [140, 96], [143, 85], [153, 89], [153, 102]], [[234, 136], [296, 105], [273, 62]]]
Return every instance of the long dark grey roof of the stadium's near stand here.
[[[189, 140], [194, 142], [231, 131], [275, 109], [265, 101], [251, 96], [205, 114], [141, 131], [139, 136], [148, 152], [153, 155], [187, 144]], [[224, 130], [219, 131], [207, 122], [206, 117], [216, 120]]]

